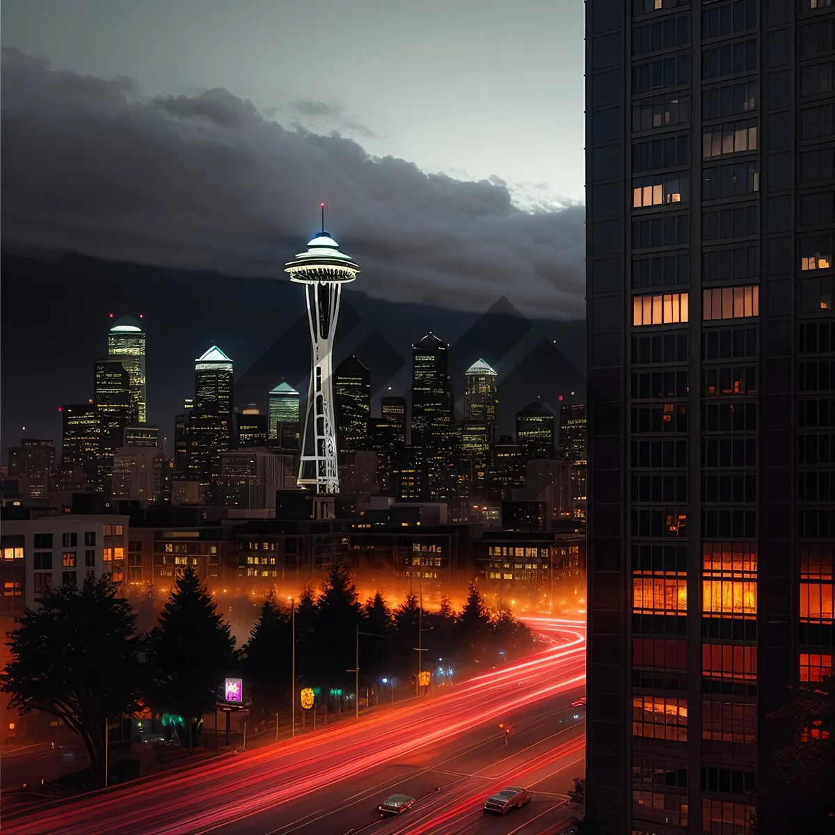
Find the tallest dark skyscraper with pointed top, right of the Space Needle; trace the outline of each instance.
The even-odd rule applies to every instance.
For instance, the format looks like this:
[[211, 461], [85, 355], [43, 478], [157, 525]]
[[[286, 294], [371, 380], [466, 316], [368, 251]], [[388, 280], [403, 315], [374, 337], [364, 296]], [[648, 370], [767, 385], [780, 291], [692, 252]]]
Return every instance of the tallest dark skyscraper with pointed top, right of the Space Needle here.
[[432, 331], [412, 345], [412, 446], [431, 443], [452, 419], [447, 343]]

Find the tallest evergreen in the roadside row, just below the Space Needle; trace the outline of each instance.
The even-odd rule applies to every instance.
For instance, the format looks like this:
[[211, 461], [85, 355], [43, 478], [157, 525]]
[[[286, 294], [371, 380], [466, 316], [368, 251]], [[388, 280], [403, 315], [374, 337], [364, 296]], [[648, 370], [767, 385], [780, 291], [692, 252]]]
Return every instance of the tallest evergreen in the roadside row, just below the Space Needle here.
[[323, 686], [344, 684], [356, 663], [360, 603], [351, 575], [342, 567], [331, 569], [316, 601], [316, 650], [323, 662]]

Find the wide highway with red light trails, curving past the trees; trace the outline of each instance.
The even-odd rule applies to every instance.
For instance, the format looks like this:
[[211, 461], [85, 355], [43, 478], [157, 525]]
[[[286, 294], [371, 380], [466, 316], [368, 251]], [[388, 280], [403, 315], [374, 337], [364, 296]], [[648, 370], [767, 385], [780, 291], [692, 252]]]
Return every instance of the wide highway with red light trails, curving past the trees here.
[[[584, 772], [585, 629], [529, 619], [543, 649], [442, 695], [373, 711], [256, 751], [230, 754], [123, 787], [41, 807], [3, 822], [20, 835], [551, 835], [572, 812], [566, 793]], [[505, 744], [499, 724], [510, 728]], [[488, 817], [506, 786], [527, 807]], [[382, 819], [388, 795], [417, 797]]]

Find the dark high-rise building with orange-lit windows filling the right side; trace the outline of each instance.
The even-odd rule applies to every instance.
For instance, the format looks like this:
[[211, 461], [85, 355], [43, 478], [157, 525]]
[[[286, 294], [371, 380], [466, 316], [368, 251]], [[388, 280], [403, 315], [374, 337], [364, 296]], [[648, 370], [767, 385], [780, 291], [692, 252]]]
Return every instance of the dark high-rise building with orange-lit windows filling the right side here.
[[831, 672], [833, 16], [586, 3], [587, 809], [612, 832], [750, 832], [768, 714]]

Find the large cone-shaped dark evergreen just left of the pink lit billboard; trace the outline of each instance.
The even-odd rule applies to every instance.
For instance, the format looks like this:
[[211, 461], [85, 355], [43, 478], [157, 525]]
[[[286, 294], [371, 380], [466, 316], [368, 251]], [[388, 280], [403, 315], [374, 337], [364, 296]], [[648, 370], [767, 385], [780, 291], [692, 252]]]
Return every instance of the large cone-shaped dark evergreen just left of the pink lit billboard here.
[[214, 708], [224, 678], [235, 671], [237, 662], [229, 624], [200, 585], [195, 569], [185, 569], [177, 578], [147, 650], [154, 669], [151, 704], [178, 717], [177, 732], [193, 747], [203, 729], [203, 714]]

